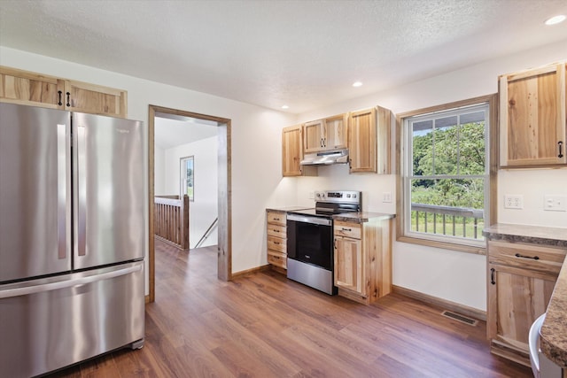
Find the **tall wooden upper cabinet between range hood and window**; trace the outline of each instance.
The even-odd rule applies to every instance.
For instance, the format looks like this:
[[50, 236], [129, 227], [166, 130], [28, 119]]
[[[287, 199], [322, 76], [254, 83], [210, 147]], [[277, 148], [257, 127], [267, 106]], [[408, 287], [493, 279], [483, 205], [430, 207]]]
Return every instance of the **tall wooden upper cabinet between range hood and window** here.
[[350, 173], [390, 174], [392, 112], [382, 107], [351, 112], [348, 120]]

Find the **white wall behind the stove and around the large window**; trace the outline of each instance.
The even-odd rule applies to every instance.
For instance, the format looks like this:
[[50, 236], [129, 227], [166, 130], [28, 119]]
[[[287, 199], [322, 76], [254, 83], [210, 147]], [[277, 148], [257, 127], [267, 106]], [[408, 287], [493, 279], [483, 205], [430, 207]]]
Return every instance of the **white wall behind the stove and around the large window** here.
[[[317, 120], [340, 112], [380, 105], [394, 113], [447, 104], [498, 91], [498, 75], [567, 59], [567, 41], [486, 61], [477, 66], [417, 81], [372, 96], [333, 104], [301, 114], [299, 121]], [[418, 62], [416, 62], [418, 64]], [[348, 175], [346, 166], [323, 167], [320, 177], [299, 178], [299, 202], [307, 202], [315, 189], [361, 189], [363, 208], [395, 212], [382, 204], [384, 191], [395, 193], [392, 176]], [[544, 194], [567, 194], [567, 168], [500, 171], [498, 178], [498, 221], [567, 228], [566, 212], [544, 212]], [[503, 209], [505, 193], [524, 195], [523, 210]], [[395, 196], [393, 197], [395, 202]], [[566, 231], [567, 232], [567, 229]], [[408, 243], [393, 243], [393, 283], [403, 288], [440, 297], [479, 310], [486, 309], [486, 259], [469, 253], [446, 251]]]

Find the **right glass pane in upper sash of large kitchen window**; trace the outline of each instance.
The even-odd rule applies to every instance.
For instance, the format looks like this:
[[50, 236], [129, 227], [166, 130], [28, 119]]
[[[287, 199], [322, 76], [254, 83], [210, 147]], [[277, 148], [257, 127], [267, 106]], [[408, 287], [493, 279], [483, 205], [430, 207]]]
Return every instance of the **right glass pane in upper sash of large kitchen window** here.
[[[464, 122], [469, 114], [461, 117], [459, 133], [460, 174], [485, 173], [485, 120], [475, 117], [471, 122]], [[478, 114], [478, 113], [473, 113]], [[472, 117], [469, 117], [470, 119]]]

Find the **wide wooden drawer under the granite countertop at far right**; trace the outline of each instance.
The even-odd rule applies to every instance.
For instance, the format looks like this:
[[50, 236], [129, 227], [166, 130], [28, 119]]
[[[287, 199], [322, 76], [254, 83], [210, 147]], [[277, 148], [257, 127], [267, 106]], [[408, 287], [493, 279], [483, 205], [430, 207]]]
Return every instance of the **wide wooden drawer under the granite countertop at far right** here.
[[542, 245], [488, 242], [488, 261], [492, 264], [516, 266], [540, 272], [559, 274], [566, 249]]

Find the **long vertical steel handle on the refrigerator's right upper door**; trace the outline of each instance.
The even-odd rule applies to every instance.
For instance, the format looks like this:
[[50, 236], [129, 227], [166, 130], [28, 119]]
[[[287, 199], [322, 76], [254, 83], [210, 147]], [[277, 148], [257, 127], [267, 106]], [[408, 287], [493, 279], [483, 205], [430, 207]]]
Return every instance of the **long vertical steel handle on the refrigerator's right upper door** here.
[[78, 256], [85, 256], [87, 254], [87, 143], [85, 139], [86, 127], [77, 126], [77, 166], [78, 177], [77, 193], [78, 205], [75, 209], [77, 214], [77, 238], [76, 238], [76, 252]]

